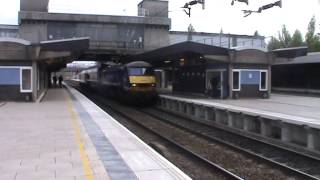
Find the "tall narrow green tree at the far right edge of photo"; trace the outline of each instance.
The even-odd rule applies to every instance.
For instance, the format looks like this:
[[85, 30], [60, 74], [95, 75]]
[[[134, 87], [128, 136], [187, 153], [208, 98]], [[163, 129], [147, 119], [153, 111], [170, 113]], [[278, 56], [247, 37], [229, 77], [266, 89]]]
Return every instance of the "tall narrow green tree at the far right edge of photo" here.
[[320, 37], [315, 34], [316, 18], [313, 16], [308, 25], [308, 32], [306, 34], [306, 43], [309, 51], [320, 51]]

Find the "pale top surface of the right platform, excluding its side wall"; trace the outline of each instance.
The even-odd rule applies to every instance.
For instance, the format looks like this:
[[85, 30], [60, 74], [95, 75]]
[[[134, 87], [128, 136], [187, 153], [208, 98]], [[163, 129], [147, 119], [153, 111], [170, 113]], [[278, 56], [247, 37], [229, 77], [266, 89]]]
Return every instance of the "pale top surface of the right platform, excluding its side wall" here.
[[208, 99], [201, 97], [186, 97], [181, 95], [161, 95], [163, 97], [179, 98], [195, 103], [218, 106], [225, 109], [261, 114], [279, 118], [294, 124], [306, 124], [320, 128], [320, 98], [284, 94], [272, 94], [269, 99]]

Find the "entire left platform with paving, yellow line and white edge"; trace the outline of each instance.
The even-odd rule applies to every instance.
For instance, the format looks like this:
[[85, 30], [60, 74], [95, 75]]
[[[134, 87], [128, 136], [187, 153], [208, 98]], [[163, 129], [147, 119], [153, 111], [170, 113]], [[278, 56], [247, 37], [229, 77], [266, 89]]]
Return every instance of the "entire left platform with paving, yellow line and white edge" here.
[[190, 179], [78, 91], [0, 102], [1, 180]]

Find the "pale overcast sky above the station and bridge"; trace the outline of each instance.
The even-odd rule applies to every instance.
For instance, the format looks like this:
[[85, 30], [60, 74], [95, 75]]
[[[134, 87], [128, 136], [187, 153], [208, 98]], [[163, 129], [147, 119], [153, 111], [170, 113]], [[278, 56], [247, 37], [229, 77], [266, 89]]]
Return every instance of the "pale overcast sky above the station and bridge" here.
[[[17, 24], [19, 0], [1, 0], [0, 23]], [[51, 0], [50, 12], [85, 13], [107, 15], [137, 15], [137, 4], [141, 0]], [[206, 0], [206, 8], [200, 5], [192, 7], [189, 18], [180, 8], [189, 0], [169, 0], [169, 16], [172, 29], [186, 31], [191, 23], [197, 32], [220, 32], [252, 35], [258, 30], [261, 35], [277, 35], [282, 24], [291, 33], [299, 29], [305, 34], [313, 15], [317, 19], [317, 32], [320, 23], [320, 0], [283, 0], [283, 7], [274, 7], [261, 14], [252, 14], [244, 18], [243, 9], [257, 10], [260, 6], [276, 0], [249, 0], [249, 6], [231, 0]]]

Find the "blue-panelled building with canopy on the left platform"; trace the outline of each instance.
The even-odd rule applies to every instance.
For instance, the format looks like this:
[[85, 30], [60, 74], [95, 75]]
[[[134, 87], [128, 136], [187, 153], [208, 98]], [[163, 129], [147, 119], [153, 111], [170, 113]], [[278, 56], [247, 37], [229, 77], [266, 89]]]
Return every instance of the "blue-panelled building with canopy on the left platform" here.
[[88, 38], [42, 41], [0, 38], [0, 101], [36, 101], [50, 84], [50, 73], [88, 48]]

